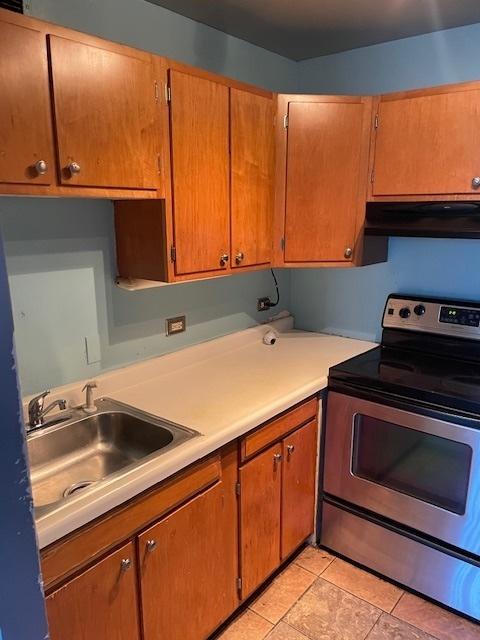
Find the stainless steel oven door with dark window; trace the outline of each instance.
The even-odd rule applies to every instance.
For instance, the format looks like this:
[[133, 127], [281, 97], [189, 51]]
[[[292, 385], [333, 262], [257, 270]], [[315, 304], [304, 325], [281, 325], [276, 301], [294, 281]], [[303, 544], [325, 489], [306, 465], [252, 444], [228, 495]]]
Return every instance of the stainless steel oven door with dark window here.
[[479, 454], [480, 430], [329, 393], [324, 491], [476, 555]]

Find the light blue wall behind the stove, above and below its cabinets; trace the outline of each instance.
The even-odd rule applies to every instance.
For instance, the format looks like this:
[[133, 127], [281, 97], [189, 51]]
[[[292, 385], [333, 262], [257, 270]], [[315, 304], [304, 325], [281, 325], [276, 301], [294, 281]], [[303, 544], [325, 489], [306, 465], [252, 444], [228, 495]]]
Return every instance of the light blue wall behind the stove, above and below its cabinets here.
[[[480, 25], [299, 63], [306, 93], [370, 94], [480, 79]], [[386, 264], [292, 270], [297, 326], [379, 339], [391, 292], [480, 300], [480, 241], [392, 238]]]

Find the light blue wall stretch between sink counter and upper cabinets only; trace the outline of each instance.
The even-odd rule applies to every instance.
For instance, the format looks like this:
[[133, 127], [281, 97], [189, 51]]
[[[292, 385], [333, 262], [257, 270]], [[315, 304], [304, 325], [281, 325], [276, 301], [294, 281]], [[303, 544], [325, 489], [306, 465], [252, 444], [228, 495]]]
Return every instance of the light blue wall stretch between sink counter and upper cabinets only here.
[[[266, 319], [256, 298], [274, 293], [269, 271], [118, 289], [110, 201], [0, 198], [0, 224], [24, 395], [253, 326]], [[278, 276], [288, 308], [289, 274]], [[180, 314], [187, 331], [167, 338]]]

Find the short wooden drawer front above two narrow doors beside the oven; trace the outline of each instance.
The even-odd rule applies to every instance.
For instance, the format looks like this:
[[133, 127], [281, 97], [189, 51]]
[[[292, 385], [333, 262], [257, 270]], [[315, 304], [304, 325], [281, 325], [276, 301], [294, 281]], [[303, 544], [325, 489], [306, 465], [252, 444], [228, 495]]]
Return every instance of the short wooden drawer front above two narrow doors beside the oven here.
[[278, 418], [274, 418], [267, 424], [249, 433], [240, 441], [240, 456], [242, 461], [250, 458], [269, 444], [280, 440], [287, 433], [293, 431], [308, 420], [315, 418], [318, 411], [317, 398], [310, 398], [306, 402], [297, 405]]

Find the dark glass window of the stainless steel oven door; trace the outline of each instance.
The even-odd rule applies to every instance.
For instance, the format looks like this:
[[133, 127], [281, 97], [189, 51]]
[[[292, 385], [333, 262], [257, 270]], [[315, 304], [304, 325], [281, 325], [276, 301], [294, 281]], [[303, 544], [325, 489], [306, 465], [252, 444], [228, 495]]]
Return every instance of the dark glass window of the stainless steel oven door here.
[[357, 414], [352, 473], [464, 514], [472, 449], [466, 444]]

